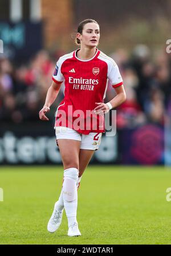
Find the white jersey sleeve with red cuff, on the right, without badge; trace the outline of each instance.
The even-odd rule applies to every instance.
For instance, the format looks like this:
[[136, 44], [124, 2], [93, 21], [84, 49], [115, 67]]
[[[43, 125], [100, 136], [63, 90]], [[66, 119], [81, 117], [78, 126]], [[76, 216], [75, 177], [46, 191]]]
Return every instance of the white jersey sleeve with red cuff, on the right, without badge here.
[[108, 79], [111, 82], [113, 88], [119, 87], [123, 84], [123, 78], [121, 77], [119, 68], [114, 60], [108, 64]]

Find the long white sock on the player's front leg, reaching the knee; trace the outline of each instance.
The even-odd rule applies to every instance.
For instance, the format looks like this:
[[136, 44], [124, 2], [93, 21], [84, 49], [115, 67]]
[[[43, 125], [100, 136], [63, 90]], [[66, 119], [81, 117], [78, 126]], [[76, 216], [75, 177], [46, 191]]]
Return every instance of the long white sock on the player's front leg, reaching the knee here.
[[76, 188], [76, 182], [78, 181], [79, 170], [76, 168], [68, 168], [64, 170], [64, 182], [63, 182], [63, 202], [68, 218], [68, 227], [70, 227], [76, 221], [76, 211], [78, 205], [78, 194]]

